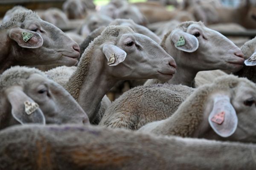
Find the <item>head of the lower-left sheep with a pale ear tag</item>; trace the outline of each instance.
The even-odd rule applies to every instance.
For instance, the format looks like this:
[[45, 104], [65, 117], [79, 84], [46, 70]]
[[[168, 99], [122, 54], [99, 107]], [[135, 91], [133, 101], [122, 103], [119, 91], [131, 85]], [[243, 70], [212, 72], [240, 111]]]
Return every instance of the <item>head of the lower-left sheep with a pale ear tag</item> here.
[[[1, 113], [9, 116], [12, 113], [15, 118], [9, 118], [9, 125], [17, 122], [21, 124], [88, 122], [88, 117], [79, 104], [61, 85], [40, 74], [31, 74], [28, 79], [21, 81], [20, 85], [12, 85], [2, 90], [3, 98], [0, 100], [0, 106], [4, 109]], [[28, 109], [32, 110], [27, 112], [24, 111], [24, 105], [25, 108], [27, 105], [35, 107], [28, 106]]]

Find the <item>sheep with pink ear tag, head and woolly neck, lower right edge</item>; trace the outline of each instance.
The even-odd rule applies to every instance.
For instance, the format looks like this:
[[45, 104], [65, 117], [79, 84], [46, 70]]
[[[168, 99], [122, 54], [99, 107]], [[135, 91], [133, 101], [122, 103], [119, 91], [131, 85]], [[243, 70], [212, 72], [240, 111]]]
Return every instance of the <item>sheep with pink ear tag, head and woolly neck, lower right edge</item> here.
[[256, 85], [246, 78], [222, 76], [195, 90], [167, 119], [139, 131], [215, 140], [256, 142]]

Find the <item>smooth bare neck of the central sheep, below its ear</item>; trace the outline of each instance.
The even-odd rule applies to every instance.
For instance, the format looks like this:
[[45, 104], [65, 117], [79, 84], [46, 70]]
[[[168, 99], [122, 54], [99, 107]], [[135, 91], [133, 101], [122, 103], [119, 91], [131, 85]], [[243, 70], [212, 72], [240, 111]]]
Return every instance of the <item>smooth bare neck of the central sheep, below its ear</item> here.
[[[90, 122], [95, 118], [97, 108], [99, 108], [103, 96], [117, 82], [117, 80], [113, 79], [108, 74], [108, 71], [106, 71], [106, 68], [109, 66], [106, 65], [106, 59], [105, 57], [102, 57], [102, 54], [100, 53], [102, 52], [96, 50], [92, 53], [87, 62], [82, 62], [83, 64], [78, 66], [77, 71], [73, 74], [74, 77], [71, 78], [68, 83], [69, 85], [72, 85], [79, 81], [82, 82], [81, 86], [78, 87], [78, 96], [73, 95], [73, 97], [75, 97], [79, 105], [84, 109]], [[81, 72], [81, 68], [79, 67], [87, 68], [87, 70], [82, 73], [86, 75], [81, 77], [82, 74], [78, 73]]]

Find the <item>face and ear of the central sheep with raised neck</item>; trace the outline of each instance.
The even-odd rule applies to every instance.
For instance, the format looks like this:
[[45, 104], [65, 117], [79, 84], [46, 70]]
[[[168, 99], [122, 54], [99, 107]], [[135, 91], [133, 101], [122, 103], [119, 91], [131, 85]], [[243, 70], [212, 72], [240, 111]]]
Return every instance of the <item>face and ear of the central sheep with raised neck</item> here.
[[[168, 80], [175, 74], [174, 59], [155, 41], [143, 34], [126, 33], [117, 37], [116, 45], [108, 42], [102, 45], [108, 62], [108, 72], [119, 79]], [[136, 71], [135, 71], [136, 70]]]

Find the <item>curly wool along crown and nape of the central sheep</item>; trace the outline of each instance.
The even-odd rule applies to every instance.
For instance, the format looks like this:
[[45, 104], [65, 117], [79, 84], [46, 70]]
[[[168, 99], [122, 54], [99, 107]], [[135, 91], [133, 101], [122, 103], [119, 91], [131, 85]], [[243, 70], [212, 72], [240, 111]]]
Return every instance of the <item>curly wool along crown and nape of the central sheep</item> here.
[[74, 74], [70, 77], [66, 90], [77, 100], [79, 91], [83, 82], [85, 81], [88, 71], [90, 70], [93, 52], [96, 46], [102, 45], [103, 42], [110, 37], [118, 37], [119, 34], [127, 32], [134, 32], [131, 28], [125, 26], [108, 26], [102, 31], [101, 35], [96, 37], [93, 42], [90, 42], [88, 47], [84, 50], [80, 62]]

